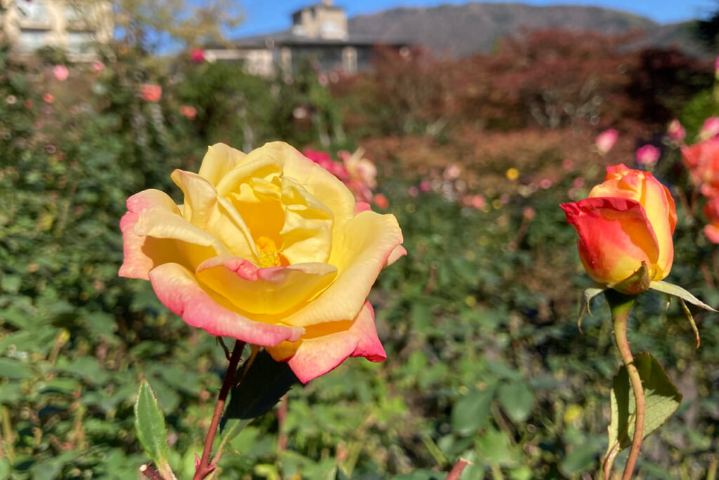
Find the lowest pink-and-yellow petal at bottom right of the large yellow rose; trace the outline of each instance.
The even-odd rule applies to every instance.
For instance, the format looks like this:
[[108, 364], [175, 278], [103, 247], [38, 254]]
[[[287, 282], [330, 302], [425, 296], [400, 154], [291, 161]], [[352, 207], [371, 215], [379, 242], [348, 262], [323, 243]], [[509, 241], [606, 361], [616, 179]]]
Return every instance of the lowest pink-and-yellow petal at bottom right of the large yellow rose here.
[[365, 302], [354, 320], [313, 325], [298, 342], [285, 342], [267, 351], [275, 360], [287, 361], [303, 384], [333, 370], [347, 357], [365, 357], [373, 362], [387, 358], [377, 338], [370, 302]]

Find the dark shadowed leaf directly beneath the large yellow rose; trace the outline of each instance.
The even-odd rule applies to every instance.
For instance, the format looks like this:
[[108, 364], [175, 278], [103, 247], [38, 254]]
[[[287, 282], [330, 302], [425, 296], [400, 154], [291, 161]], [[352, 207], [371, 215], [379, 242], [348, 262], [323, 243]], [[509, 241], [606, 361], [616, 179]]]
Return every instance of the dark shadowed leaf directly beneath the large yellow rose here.
[[225, 410], [226, 419], [259, 417], [299, 382], [286, 362], [275, 361], [265, 350], [257, 353], [252, 365], [240, 374], [242, 381], [232, 389], [232, 397]]

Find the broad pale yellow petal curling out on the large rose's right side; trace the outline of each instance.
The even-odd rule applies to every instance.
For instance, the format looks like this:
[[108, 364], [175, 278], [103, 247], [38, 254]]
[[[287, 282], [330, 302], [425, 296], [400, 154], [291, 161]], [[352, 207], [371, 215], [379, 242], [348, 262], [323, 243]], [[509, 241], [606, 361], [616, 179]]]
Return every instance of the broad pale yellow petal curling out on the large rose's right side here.
[[289, 325], [305, 327], [354, 318], [377, 275], [403, 240], [397, 219], [376, 212], [362, 212], [336, 230], [329, 263], [336, 266], [339, 275], [321, 295], [290, 315], [286, 320]]

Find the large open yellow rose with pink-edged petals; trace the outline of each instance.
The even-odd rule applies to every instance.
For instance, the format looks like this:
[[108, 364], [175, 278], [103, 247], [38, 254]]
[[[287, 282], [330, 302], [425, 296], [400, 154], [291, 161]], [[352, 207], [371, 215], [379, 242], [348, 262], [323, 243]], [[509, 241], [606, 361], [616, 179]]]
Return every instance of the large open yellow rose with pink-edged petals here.
[[393, 215], [283, 142], [247, 155], [218, 143], [172, 178], [181, 205], [152, 189], [127, 200], [121, 276], [150, 280], [189, 325], [265, 346], [303, 382], [348, 356], [385, 358], [366, 298], [406, 253]]

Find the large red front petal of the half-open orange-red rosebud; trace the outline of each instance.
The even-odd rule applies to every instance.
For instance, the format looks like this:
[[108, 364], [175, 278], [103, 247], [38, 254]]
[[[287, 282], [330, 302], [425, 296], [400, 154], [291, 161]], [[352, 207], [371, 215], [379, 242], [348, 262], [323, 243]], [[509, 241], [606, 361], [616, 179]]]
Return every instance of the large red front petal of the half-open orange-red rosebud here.
[[659, 258], [659, 244], [636, 200], [594, 197], [562, 204], [567, 222], [579, 234], [579, 252], [587, 273], [600, 284], [628, 279], [644, 262], [652, 268]]

